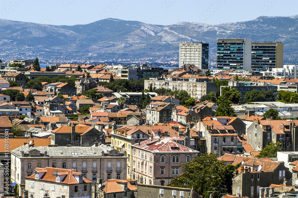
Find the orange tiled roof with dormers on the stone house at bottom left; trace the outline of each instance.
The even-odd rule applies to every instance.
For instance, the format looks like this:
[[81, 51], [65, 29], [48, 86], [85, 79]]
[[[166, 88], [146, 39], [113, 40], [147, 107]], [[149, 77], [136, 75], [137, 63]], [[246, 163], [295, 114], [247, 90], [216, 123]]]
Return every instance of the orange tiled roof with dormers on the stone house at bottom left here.
[[[52, 167], [46, 167], [44, 169], [42, 168], [36, 168], [34, 169], [37, 172], [45, 172], [43, 176], [38, 179], [41, 181], [48, 181], [48, 182], [55, 182], [55, 183], [62, 183], [62, 184], [78, 184], [79, 182], [75, 178], [74, 175], [80, 175], [82, 173], [75, 172], [75, 169], [58, 169], [58, 168], [52, 168]], [[54, 174], [56, 171], [58, 175], [66, 175], [61, 182], [57, 182], [56, 180], [56, 174]], [[35, 178], [35, 173], [30, 175], [29, 177], [25, 177], [27, 179], [33, 179], [37, 180]], [[92, 181], [86, 179], [83, 177], [83, 183], [92, 183]]]

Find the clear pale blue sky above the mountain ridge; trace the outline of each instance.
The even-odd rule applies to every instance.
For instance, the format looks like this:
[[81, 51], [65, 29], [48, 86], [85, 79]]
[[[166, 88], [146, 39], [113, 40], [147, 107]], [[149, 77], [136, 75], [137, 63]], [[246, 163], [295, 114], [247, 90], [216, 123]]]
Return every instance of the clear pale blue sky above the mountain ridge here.
[[0, 18], [52, 25], [89, 24], [105, 18], [155, 25], [215, 25], [296, 15], [297, 7], [296, 0], [1, 0]]

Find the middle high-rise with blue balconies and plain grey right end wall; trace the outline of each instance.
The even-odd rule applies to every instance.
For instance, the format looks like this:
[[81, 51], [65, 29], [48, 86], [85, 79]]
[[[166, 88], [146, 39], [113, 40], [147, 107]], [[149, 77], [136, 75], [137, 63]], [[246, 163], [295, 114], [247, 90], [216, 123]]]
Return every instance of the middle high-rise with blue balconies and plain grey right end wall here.
[[252, 40], [218, 39], [217, 69], [219, 70], [251, 70]]

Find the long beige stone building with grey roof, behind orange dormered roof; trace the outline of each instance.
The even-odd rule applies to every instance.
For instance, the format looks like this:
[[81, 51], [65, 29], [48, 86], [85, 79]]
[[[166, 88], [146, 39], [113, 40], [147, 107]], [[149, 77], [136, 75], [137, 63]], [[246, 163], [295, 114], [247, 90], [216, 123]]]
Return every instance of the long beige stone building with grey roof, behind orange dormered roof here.
[[19, 185], [20, 195], [25, 177], [35, 168], [76, 169], [87, 179], [126, 179], [126, 152], [108, 146], [32, 146], [24, 145], [11, 152], [11, 182]]

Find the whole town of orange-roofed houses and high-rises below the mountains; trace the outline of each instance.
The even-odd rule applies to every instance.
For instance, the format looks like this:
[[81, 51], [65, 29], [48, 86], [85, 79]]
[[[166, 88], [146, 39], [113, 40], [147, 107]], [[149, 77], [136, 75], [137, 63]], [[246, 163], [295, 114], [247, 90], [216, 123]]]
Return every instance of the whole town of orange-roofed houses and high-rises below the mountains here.
[[297, 65], [224, 38], [212, 70], [208, 49], [180, 43], [179, 68], [1, 61], [0, 195], [296, 197]]

